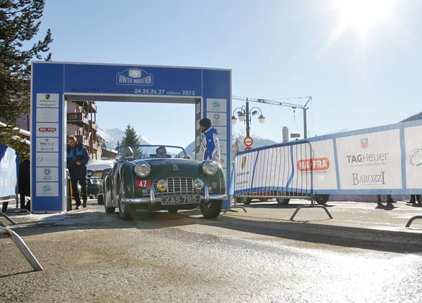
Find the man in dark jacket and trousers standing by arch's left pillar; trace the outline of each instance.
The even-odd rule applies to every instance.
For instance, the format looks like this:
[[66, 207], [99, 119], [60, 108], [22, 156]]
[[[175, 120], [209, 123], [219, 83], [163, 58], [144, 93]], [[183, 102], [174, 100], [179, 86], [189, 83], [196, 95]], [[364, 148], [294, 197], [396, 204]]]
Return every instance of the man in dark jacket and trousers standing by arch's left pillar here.
[[68, 136], [68, 169], [70, 181], [72, 181], [72, 192], [76, 201], [76, 209], [81, 205], [81, 198], [77, 191], [77, 182], [81, 186], [83, 207], [87, 207], [87, 164], [89, 155], [87, 148], [76, 141], [75, 136]]

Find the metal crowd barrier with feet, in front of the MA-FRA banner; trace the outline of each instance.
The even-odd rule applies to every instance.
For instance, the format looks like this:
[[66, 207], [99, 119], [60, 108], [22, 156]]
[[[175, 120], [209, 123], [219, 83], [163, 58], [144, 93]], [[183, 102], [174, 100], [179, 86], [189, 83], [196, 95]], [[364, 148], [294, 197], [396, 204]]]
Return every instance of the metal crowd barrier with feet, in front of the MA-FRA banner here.
[[[238, 198], [276, 199], [287, 205], [290, 199], [310, 200], [310, 205], [300, 205], [290, 220], [302, 208], [323, 208], [315, 204], [312, 144], [307, 140], [280, 143], [236, 154], [234, 174], [234, 207]], [[243, 207], [242, 207], [243, 208]]]

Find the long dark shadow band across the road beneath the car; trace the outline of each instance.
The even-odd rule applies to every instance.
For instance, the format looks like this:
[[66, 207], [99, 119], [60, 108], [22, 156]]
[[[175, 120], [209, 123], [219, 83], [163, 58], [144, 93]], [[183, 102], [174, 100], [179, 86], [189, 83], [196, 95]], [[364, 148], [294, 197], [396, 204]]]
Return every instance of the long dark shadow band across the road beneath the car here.
[[[257, 207], [262, 206], [257, 205]], [[272, 205], [265, 206], [272, 207]], [[286, 206], [293, 208], [298, 207], [298, 204]], [[279, 208], [280, 206], [276, 205], [276, 207]], [[254, 207], [252, 206], [250, 208]], [[120, 219], [118, 212], [115, 212], [115, 214], [106, 214], [99, 207], [94, 209], [89, 207], [87, 210], [51, 215], [38, 221], [18, 223], [17, 226], [13, 226], [13, 230], [25, 238], [32, 235], [73, 230], [119, 228], [124, 233], [124, 229], [127, 228], [153, 230], [203, 224], [207, 226], [218, 226], [233, 231], [255, 233], [263, 236], [286, 238], [309, 243], [398, 253], [422, 252], [421, 234], [417, 233], [381, 231], [321, 223], [312, 224], [309, 221], [264, 218], [258, 214], [251, 217], [250, 214], [245, 216], [241, 212], [228, 212], [227, 214], [221, 214], [217, 219], [204, 219], [201, 217], [198, 209], [181, 211], [178, 214], [170, 214], [168, 212], [137, 212], [133, 221]], [[14, 217], [14, 219], [19, 221], [18, 216]], [[318, 221], [329, 220], [319, 219]]]

